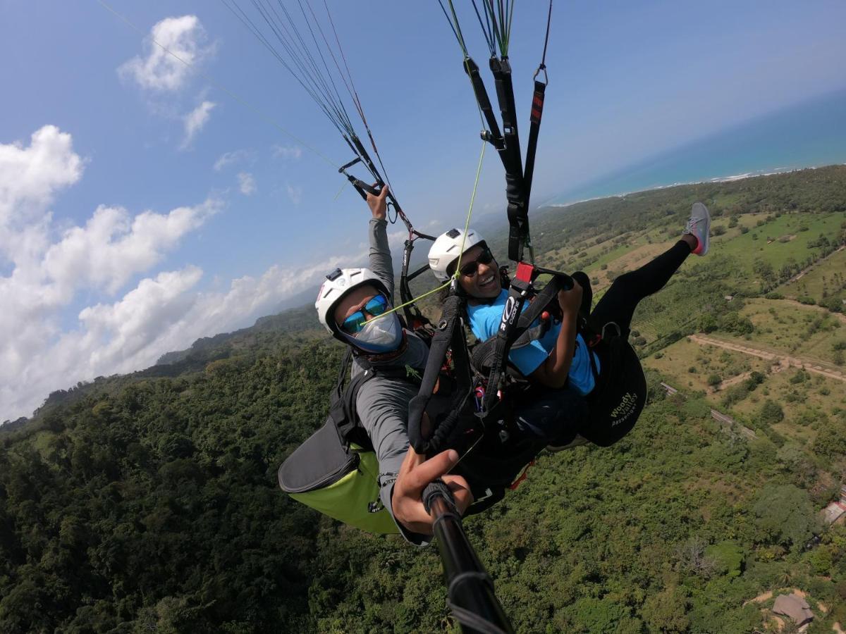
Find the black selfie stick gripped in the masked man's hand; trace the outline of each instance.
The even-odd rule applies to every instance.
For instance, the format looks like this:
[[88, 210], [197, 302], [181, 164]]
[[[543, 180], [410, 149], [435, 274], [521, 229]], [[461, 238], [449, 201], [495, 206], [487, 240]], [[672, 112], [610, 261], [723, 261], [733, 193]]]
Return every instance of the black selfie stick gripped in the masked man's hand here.
[[503, 606], [493, 592], [493, 580], [470, 545], [453, 494], [442, 480], [426, 485], [423, 505], [432, 519], [448, 605], [464, 632], [513, 634]]

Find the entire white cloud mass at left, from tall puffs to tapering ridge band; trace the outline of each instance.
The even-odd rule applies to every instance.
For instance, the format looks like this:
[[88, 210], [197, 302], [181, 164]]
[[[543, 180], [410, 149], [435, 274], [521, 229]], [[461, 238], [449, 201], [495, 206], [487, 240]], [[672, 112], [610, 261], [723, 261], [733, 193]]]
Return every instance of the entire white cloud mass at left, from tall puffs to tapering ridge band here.
[[[13, 260], [12, 272], [0, 275], [0, 332], [9, 334], [0, 337], [0, 420], [30, 415], [51, 391], [149, 367], [198, 337], [248, 325], [301, 292], [316, 292], [338, 265], [366, 261], [361, 249], [296, 268], [272, 266], [220, 292], [203, 290], [196, 266], [155, 267], [222, 204], [209, 199], [138, 214], [102, 205], [56, 235], [48, 205], [81, 178], [83, 164], [70, 135], [57, 128], [41, 128], [28, 147], [0, 145], [3, 218], [15, 219], [14, 239], [29, 245], [16, 251], [25, 257]], [[302, 196], [288, 187], [293, 198]], [[86, 297], [96, 299], [86, 306]], [[74, 302], [81, 308], [68, 325]]]

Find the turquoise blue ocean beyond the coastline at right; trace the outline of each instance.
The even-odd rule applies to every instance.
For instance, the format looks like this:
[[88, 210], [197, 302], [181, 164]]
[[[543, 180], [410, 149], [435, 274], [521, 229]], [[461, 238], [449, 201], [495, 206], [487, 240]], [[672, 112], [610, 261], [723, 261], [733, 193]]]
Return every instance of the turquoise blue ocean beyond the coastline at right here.
[[652, 156], [567, 190], [546, 205], [835, 163], [846, 163], [846, 90]]

